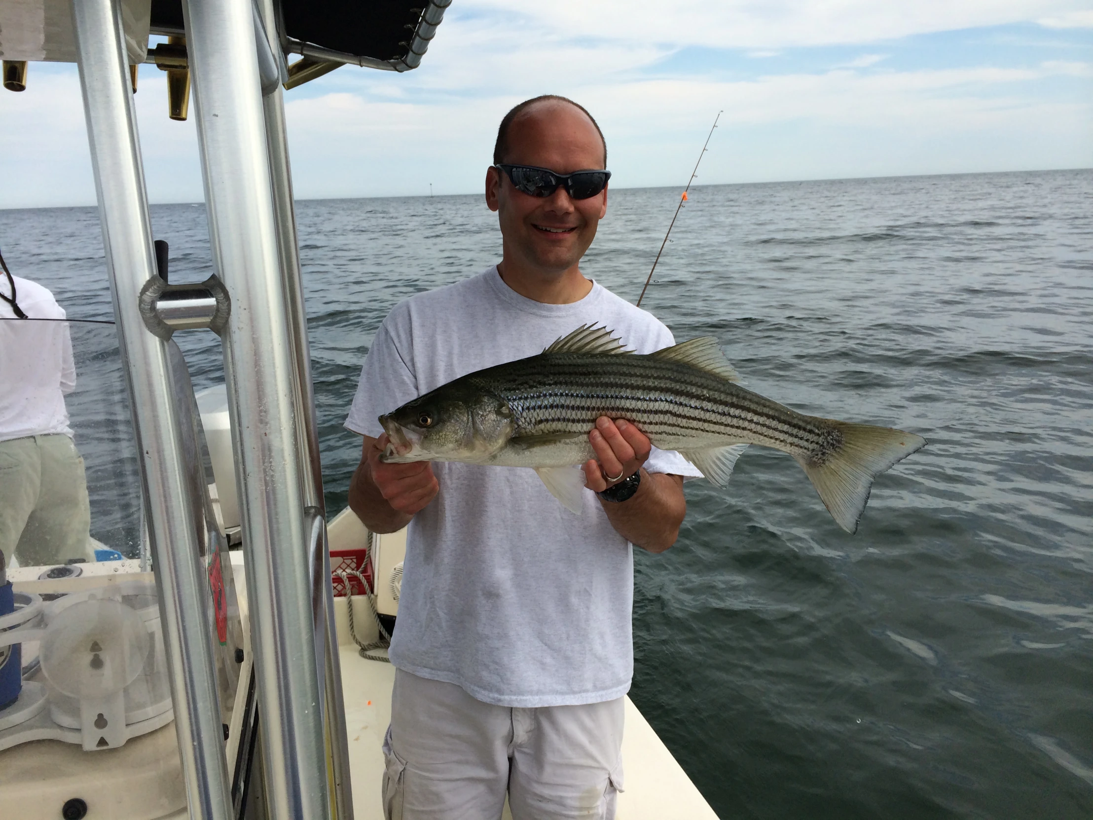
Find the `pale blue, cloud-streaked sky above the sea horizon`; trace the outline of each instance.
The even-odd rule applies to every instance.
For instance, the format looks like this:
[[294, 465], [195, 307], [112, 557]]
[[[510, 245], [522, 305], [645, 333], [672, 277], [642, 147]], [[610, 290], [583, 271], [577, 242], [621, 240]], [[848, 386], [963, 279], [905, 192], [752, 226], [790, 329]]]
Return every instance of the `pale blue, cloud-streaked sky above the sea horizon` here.
[[[1093, 0], [455, 0], [419, 69], [285, 93], [297, 198], [482, 190], [497, 122], [563, 94], [612, 187], [1093, 166]], [[190, 119], [140, 69], [152, 202], [202, 199]], [[74, 65], [0, 90], [0, 208], [93, 204]]]

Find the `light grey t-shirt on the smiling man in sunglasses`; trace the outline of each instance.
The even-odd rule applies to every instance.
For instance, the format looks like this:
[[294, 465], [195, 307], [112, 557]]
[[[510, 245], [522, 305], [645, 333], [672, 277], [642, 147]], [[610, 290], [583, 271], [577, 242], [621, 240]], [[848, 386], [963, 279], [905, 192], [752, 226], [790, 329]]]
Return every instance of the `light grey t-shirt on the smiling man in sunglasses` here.
[[[638, 353], [674, 343], [650, 314], [599, 284], [579, 302], [525, 298], [496, 268], [418, 294], [387, 316], [364, 361], [345, 426], [483, 367], [534, 355], [580, 325], [606, 325]], [[701, 475], [654, 449], [649, 472]], [[563, 507], [528, 468], [434, 464], [440, 485], [407, 539], [391, 663], [502, 706], [620, 698], [634, 670], [631, 544], [585, 491]]]

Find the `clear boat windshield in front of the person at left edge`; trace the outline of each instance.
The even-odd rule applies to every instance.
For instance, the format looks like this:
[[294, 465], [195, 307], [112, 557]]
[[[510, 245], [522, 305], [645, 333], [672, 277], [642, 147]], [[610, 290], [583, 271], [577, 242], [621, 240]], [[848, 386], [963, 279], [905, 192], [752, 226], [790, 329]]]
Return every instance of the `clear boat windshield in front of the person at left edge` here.
[[0, 350], [7, 565], [140, 561], [137, 450], [113, 325], [8, 319]]

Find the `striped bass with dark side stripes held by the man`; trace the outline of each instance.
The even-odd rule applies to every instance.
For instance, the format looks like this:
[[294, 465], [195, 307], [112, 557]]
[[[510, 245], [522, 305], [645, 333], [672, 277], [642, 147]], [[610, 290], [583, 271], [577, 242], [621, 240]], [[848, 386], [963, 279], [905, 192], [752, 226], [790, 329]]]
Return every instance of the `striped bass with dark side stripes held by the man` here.
[[625, 419], [725, 487], [749, 444], [788, 453], [847, 532], [873, 479], [926, 445], [914, 433], [806, 415], [747, 390], [717, 340], [701, 337], [639, 355], [606, 328], [577, 328], [542, 353], [449, 382], [379, 417], [383, 461], [463, 461], [534, 469], [580, 513], [588, 433]]

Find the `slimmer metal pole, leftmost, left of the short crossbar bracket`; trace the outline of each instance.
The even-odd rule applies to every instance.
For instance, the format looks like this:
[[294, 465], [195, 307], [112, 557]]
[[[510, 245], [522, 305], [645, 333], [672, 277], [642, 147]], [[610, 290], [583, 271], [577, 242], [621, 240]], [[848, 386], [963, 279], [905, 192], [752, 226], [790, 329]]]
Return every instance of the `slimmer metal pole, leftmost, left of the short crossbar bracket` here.
[[113, 0], [73, 0], [72, 13], [186, 796], [191, 818], [228, 820], [230, 781], [212, 625], [205, 614], [209, 587], [198, 554], [196, 511], [186, 491], [167, 348], [145, 329], [138, 303], [141, 288], [155, 274], [155, 256], [121, 16]]

